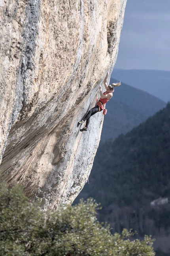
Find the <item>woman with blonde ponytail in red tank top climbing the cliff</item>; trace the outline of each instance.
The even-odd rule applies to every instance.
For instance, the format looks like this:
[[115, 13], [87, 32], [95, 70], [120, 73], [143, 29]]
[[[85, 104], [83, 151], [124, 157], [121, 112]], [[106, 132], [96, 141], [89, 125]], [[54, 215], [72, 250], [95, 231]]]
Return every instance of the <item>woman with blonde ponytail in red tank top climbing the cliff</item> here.
[[96, 114], [97, 112], [100, 112], [102, 110], [105, 110], [105, 105], [106, 102], [108, 102], [111, 97], [113, 96], [114, 92], [114, 86], [119, 86], [121, 85], [121, 82], [116, 83], [116, 84], [107, 84], [107, 78], [108, 78], [109, 72], [107, 72], [106, 77], [104, 78], [104, 87], [106, 88], [106, 92], [102, 92], [102, 86], [99, 86], [100, 89], [100, 99], [97, 101], [96, 106], [93, 107], [92, 109], [89, 110], [87, 115], [83, 118], [83, 120], [80, 120], [79, 123], [83, 124], [86, 121], [86, 125], [84, 128], [80, 129], [81, 132], [87, 131], [89, 122], [90, 122], [90, 117]]

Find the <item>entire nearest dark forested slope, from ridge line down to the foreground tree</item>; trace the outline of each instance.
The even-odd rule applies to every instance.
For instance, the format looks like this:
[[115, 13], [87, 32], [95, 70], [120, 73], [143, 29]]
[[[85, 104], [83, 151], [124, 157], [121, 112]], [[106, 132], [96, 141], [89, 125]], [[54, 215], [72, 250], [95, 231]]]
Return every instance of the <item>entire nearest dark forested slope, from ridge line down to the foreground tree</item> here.
[[170, 103], [126, 135], [100, 143], [82, 197], [102, 204], [99, 218], [114, 231], [127, 227], [157, 238], [170, 234], [169, 204], [150, 204], [170, 198]]

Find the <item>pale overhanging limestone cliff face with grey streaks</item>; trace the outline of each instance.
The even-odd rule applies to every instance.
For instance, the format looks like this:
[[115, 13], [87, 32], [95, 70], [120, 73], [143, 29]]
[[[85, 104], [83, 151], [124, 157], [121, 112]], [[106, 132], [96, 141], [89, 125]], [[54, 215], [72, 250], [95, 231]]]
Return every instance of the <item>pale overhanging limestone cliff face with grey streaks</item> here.
[[0, 172], [30, 199], [71, 203], [89, 177], [103, 116], [96, 103], [117, 58], [126, 0], [0, 1]]

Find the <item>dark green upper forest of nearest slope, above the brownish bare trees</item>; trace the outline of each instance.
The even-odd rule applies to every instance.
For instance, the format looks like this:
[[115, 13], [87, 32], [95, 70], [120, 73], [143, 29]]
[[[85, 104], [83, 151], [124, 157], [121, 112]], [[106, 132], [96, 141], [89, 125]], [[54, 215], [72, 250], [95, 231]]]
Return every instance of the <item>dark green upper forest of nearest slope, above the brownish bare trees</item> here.
[[83, 189], [103, 206], [139, 203], [146, 191], [149, 201], [170, 196], [170, 103], [126, 135], [101, 143]]

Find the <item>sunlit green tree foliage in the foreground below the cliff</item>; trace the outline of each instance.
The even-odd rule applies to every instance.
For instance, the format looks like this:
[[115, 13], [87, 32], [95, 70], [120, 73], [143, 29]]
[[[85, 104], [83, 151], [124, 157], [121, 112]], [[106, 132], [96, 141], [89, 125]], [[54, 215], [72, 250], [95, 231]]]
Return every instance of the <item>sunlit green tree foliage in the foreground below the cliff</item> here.
[[0, 255], [6, 256], [154, 256], [153, 240], [130, 241], [133, 235], [110, 232], [96, 219], [93, 199], [62, 206], [45, 214], [38, 203], [30, 204], [17, 185], [0, 184]]

